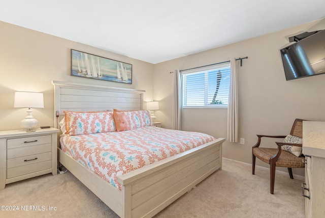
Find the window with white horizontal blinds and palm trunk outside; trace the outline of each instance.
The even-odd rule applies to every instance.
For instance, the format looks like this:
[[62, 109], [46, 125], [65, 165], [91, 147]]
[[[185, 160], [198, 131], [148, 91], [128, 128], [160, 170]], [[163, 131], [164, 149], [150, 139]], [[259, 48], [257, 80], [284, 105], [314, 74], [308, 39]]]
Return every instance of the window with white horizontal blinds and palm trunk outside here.
[[182, 72], [182, 105], [186, 107], [228, 106], [230, 64]]

